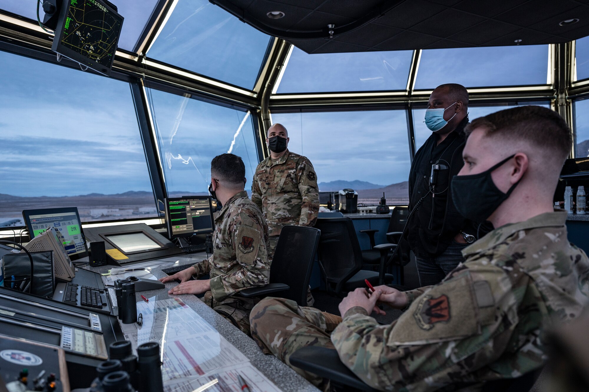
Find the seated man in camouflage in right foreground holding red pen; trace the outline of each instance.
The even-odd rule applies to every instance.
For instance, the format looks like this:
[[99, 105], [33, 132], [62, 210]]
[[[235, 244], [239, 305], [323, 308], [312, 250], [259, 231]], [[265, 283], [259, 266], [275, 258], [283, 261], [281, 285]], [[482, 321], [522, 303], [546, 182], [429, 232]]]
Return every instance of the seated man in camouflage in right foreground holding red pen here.
[[[485, 201], [496, 206], [484, 214], [498, 228], [465, 248], [464, 264], [437, 285], [405, 293], [356, 289], [339, 305], [339, 324], [314, 308], [266, 298], [250, 315], [252, 337], [266, 353], [289, 364], [301, 347], [335, 348], [356, 376], [385, 391], [476, 391], [485, 381], [542, 366], [543, 331], [577, 317], [589, 295], [587, 255], [567, 241], [567, 214], [551, 208], [570, 131], [558, 114], [540, 107], [501, 111], [471, 127], [457, 178], [470, 176], [463, 181], [472, 185], [485, 176], [507, 196], [485, 198], [489, 182], [471, 187], [482, 207]], [[461, 213], [476, 217], [481, 205]], [[405, 312], [379, 325], [369, 315], [384, 313], [377, 303]], [[294, 370], [317, 386], [325, 383]]]

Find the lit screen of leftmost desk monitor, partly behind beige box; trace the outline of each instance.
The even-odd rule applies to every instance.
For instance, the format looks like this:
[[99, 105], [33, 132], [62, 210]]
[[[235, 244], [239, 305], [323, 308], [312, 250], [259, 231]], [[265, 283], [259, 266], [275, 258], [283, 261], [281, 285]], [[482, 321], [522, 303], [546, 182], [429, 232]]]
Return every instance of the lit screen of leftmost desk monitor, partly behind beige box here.
[[59, 242], [64, 245], [68, 255], [86, 251], [84, 247], [84, 236], [80, 228], [80, 222], [75, 212], [63, 212], [61, 214], [30, 215], [31, 237], [37, 237], [39, 233], [49, 227], [55, 229]]

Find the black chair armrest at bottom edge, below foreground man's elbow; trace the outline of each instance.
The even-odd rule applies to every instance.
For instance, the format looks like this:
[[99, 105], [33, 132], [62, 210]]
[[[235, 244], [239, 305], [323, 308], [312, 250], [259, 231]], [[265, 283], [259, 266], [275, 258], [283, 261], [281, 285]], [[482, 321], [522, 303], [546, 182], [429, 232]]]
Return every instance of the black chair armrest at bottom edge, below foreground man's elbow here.
[[333, 348], [319, 346], [299, 348], [290, 355], [290, 363], [310, 373], [315, 373], [319, 377], [329, 378], [329, 380], [343, 386], [368, 392], [376, 391], [376, 389], [369, 387], [358, 376], [353, 374], [340, 361], [337, 351]]

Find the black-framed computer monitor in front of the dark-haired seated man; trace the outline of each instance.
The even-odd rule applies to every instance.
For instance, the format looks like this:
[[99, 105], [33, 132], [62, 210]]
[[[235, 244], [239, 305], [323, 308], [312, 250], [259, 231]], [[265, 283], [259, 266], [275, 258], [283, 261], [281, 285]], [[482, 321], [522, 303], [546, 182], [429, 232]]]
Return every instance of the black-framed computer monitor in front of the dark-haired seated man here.
[[171, 197], [165, 199], [164, 204], [166, 204], [166, 228], [170, 240], [213, 232], [210, 196]]

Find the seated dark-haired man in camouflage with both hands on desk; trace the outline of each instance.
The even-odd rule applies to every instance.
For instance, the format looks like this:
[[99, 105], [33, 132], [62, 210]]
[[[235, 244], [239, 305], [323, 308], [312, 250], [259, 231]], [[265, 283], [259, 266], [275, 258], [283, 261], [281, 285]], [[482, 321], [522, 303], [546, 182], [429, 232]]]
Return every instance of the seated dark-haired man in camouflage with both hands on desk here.
[[[232, 174], [241, 181], [241, 190], [232, 188], [236, 186], [231, 182]], [[160, 281], [181, 280], [169, 291], [172, 295], [204, 293], [204, 303], [249, 334], [249, 314], [259, 298], [235, 294], [244, 288], [268, 284], [271, 260], [267, 255], [268, 227], [262, 212], [243, 190], [244, 175], [245, 167], [236, 155], [223, 154], [213, 159], [211, 190], [223, 204], [214, 215], [213, 255]], [[206, 274], [210, 280], [190, 280], [191, 276], [199, 278]]]

